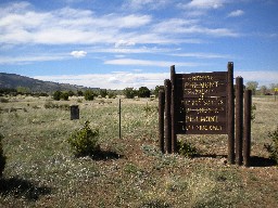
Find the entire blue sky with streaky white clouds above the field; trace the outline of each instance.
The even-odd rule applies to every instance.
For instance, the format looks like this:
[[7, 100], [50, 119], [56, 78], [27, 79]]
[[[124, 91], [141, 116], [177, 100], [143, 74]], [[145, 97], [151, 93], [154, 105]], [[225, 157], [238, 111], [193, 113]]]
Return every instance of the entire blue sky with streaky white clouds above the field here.
[[0, 72], [154, 88], [177, 73], [278, 83], [277, 0], [0, 1]]

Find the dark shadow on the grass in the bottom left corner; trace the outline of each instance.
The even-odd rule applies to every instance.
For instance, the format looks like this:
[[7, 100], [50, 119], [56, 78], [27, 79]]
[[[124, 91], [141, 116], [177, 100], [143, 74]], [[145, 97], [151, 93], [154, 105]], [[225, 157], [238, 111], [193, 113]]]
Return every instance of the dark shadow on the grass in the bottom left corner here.
[[0, 194], [3, 196], [24, 197], [27, 200], [37, 200], [42, 195], [51, 193], [51, 188], [47, 186], [38, 186], [33, 182], [21, 178], [1, 178]]

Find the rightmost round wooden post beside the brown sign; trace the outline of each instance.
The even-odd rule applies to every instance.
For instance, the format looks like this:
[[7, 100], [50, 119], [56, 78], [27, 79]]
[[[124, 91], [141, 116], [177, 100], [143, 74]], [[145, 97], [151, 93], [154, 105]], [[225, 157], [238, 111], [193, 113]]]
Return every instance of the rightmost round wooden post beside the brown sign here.
[[244, 91], [243, 165], [250, 166], [252, 90]]

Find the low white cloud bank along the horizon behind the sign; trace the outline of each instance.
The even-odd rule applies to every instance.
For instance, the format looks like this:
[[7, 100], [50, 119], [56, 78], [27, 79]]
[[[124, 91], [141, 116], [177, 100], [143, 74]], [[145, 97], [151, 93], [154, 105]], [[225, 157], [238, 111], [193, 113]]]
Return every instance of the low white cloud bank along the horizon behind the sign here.
[[[277, 83], [278, 72], [235, 72], [235, 77], [242, 76], [244, 82], [258, 81], [260, 86]], [[112, 74], [87, 74], [87, 75], [61, 75], [61, 76], [36, 76], [35, 79], [72, 83], [91, 88], [125, 89], [127, 87], [140, 88], [146, 86], [154, 89], [163, 86], [165, 79], [169, 79], [169, 73], [127, 73], [117, 72]]]

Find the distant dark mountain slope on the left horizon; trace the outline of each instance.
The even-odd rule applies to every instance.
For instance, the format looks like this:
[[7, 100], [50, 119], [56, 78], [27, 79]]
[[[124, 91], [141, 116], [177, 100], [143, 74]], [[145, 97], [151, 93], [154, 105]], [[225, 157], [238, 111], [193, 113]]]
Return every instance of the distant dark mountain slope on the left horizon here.
[[83, 86], [42, 81], [21, 75], [0, 73], [0, 88], [16, 89], [18, 87], [28, 88], [31, 92], [53, 92], [56, 90], [77, 91], [91, 89]]

